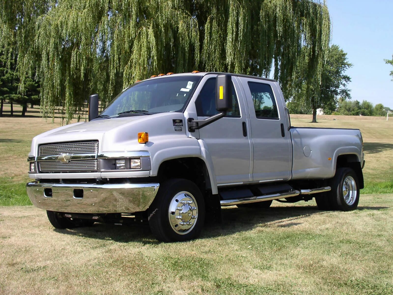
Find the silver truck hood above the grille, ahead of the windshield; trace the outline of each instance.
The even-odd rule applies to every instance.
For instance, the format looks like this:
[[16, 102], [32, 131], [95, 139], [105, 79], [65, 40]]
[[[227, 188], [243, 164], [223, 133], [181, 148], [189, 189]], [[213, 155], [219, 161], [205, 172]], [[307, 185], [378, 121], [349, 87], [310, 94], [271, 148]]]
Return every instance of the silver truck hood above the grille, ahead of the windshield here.
[[[181, 131], [175, 130], [174, 120], [180, 120], [177, 127]], [[39, 144], [82, 140], [98, 140], [99, 152], [141, 150], [158, 136], [185, 136], [184, 122], [184, 114], [179, 112], [79, 122], [35, 136], [29, 155], [38, 154]], [[149, 143], [138, 144], [139, 132], [149, 133]]]

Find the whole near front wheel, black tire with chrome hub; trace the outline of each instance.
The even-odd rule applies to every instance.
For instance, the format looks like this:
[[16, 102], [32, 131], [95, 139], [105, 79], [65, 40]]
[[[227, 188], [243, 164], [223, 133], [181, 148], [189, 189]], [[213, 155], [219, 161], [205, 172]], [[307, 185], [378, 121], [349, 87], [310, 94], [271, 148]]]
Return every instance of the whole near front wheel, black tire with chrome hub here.
[[205, 219], [198, 186], [186, 179], [165, 181], [149, 207], [149, 225], [157, 240], [180, 242], [197, 238]]

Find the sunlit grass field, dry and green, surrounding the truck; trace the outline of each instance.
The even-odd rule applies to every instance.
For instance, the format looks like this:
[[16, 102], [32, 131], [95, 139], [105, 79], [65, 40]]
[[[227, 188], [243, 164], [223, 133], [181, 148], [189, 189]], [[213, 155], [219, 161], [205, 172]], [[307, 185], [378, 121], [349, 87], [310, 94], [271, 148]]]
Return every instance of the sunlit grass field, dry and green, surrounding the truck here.
[[4, 206], [30, 204], [31, 138], [60, 120], [0, 118], [0, 294], [393, 294], [393, 120], [291, 119], [362, 131], [359, 210], [228, 207], [200, 239], [158, 243], [146, 225], [55, 230], [43, 210]]

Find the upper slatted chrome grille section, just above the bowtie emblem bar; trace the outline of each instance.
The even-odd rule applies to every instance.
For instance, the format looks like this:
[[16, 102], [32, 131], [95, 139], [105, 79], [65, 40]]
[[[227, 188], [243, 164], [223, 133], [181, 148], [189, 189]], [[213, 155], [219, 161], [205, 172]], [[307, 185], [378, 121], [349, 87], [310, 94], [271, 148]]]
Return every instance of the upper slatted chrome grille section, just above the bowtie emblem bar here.
[[67, 142], [59, 144], [41, 144], [39, 156], [70, 154], [96, 154], [98, 153], [98, 142]]

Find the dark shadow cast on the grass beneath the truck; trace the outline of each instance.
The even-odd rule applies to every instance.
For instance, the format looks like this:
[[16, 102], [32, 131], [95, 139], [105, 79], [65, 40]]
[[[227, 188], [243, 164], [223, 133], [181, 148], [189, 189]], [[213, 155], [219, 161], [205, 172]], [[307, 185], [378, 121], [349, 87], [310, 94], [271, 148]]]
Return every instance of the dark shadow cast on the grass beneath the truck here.
[[[358, 210], [382, 210], [389, 207], [359, 206]], [[214, 238], [227, 236], [236, 232], [252, 230], [257, 226], [266, 227], [293, 227], [301, 225], [303, 219], [314, 214], [329, 214], [329, 211], [318, 210], [316, 206], [287, 206], [271, 208], [224, 208], [222, 211], [222, 223], [205, 224], [200, 238]], [[150, 232], [147, 223], [136, 225], [113, 225], [95, 223], [92, 227], [77, 229], [54, 229], [55, 232], [83, 236], [100, 240], [112, 240], [121, 243], [139, 242], [143, 245], [160, 244]]]

